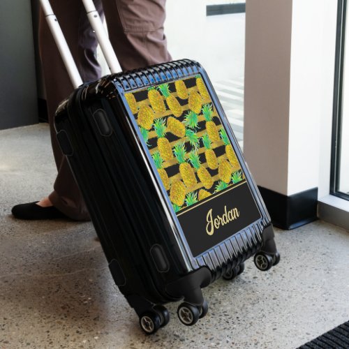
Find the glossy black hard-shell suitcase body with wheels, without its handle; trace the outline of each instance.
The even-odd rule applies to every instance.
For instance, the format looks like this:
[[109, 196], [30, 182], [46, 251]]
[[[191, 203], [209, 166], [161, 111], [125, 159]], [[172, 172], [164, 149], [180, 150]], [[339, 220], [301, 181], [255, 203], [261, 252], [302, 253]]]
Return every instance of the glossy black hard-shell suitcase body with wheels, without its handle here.
[[279, 262], [272, 224], [205, 70], [181, 60], [83, 84], [59, 105], [57, 138], [86, 201], [115, 283], [144, 332], [244, 261]]

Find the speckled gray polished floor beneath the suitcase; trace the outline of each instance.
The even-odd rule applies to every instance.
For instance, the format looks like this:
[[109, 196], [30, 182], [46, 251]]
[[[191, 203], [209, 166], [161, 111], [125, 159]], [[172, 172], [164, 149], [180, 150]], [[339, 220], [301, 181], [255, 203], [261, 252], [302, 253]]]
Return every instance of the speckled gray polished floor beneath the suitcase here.
[[0, 348], [297, 348], [349, 318], [349, 232], [317, 221], [276, 230], [270, 272], [249, 260], [239, 279], [204, 290], [195, 327], [171, 321], [144, 336], [112, 281], [91, 223], [24, 222], [17, 202], [50, 191], [46, 125], [0, 131]]

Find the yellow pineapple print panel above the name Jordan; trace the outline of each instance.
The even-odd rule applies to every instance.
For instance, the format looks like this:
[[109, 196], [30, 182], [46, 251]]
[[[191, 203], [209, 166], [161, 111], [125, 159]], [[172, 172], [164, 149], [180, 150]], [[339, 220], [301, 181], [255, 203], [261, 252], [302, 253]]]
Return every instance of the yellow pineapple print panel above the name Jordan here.
[[201, 75], [126, 94], [174, 211], [246, 181]]

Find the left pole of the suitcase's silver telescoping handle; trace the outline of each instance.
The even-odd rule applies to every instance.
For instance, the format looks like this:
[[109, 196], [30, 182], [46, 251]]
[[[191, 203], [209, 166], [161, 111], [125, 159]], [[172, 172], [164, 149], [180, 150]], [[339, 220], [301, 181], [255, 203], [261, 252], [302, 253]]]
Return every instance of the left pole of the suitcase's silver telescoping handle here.
[[59, 26], [57, 18], [53, 13], [50, 1], [40, 0], [40, 5], [43, 8], [47, 24], [50, 27], [54, 41], [56, 42], [58, 50], [64, 61], [64, 65], [66, 66], [66, 70], [68, 70], [70, 81], [72, 82], [74, 89], [76, 89], [82, 84], [82, 79], [80, 77], [79, 70], [77, 70], [77, 66], [69, 50], [68, 44], [66, 43], [66, 38], [64, 38], [61, 27]]

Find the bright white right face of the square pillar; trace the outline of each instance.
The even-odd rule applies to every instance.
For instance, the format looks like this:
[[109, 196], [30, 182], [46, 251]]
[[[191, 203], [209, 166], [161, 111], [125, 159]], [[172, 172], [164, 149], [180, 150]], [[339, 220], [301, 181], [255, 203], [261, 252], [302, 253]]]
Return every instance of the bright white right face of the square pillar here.
[[318, 186], [323, 1], [292, 1], [288, 195]]

